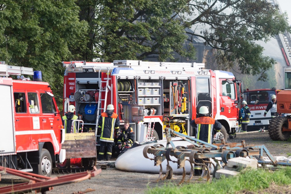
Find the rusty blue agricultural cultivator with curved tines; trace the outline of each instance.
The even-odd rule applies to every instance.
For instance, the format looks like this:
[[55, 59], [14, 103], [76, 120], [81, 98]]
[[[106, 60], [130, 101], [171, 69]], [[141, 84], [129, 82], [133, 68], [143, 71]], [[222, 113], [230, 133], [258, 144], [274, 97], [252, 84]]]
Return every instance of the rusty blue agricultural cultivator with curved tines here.
[[[278, 162], [276, 159], [274, 159], [274, 157], [270, 154], [264, 145], [246, 145], [244, 140], [241, 142], [241, 144], [225, 143], [224, 140], [221, 140], [221, 143], [219, 144], [208, 144], [207, 142], [184, 135], [169, 128], [165, 128], [165, 134], [167, 138], [166, 147], [157, 143], [153, 146], [146, 146], [143, 150], [143, 155], [145, 158], [154, 160], [154, 166], [160, 166], [160, 173], [157, 181], [172, 178], [173, 169], [169, 165], [169, 161], [177, 163], [178, 169], [183, 169], [183, 177], [179, 184], [182, 184], [186, 177], [186, 161], [189, 161], [191, 165], [190, 177], [187, 181], [190, 181], [193, 175], [195, 175], [193, 166], [202, 166], [202, 176], [207, 178], [207, 181], [209, 181], [210, 172], [213, 171], [213, 177], [215, 177], [215, 172], [218, 169], [227, 165], [229, 159], [236, 157], [249, 157], [251, 159], [258, 159], [258, 164], [266, 168], [291, 166], [291, 163]], [[187, 147], [175, 146], [171, 140], [173, 135], [178, 136], [191, 144]], [[264, 153], [270, 159], [270, 161], [265, 161], [263, 159]], [[153, 154], [154, 157], [150, 158], [148, 154]], [[173, 160], [173, 158], [176, 159]], [[161, 163], [164, 160], [167, 160], [167, 170], [163, 176]], [[216, 165], [214, 165], [214, 163]]]

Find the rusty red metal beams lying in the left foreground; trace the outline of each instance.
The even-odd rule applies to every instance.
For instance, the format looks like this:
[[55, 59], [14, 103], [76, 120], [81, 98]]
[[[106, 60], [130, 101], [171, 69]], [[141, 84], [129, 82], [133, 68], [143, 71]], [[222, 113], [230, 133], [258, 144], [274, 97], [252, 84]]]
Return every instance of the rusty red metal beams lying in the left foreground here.
[[53, 189], [53, 186], [57, 185], [65, 185], [70, 184], [74, 182], [84, 181], [86, 179], [89, 179], [91, 177], [95, 177], [96, 175], [101, 173], [101, 169], [96, 169], [96, 167], [93, 167], [93, 170], [81, 172], [81, 173], [75, 173], [75, 174], [69, 174], [59, 177], [45, 177], [33, 173], [28, 172], [22, 172], [19, 170], [14, 170], [11, 168], [5, 168], [0, 166], [0, 171], [4, 171], [5, 173], [13, 174], [19, 177], [27, 178], [30, 181], [26, 183], [20, 183], [16, 185], [10, 185], [6, 187], [0, 188], [0, 193], [28, 193], [31, 191], [41, 192], [45, 193], [46, 191], [50, 191]]

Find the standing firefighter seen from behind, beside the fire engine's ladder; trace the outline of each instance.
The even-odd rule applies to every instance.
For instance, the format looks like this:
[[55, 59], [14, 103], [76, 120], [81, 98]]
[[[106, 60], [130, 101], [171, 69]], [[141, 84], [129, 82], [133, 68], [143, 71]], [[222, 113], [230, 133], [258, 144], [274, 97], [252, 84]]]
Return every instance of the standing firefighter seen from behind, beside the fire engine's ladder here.
[[98, 127], [100, 129], [100, 149], [98, 160], [103, 160], [105, 155], [105, 147], [107, 148], [106, 160], [111, 159], [112, 147], [114, 144], [114, 133], [119, 131], [119, 117], [113, 112], [114, 106], [109, 104], [105, 112], [98, 119]]

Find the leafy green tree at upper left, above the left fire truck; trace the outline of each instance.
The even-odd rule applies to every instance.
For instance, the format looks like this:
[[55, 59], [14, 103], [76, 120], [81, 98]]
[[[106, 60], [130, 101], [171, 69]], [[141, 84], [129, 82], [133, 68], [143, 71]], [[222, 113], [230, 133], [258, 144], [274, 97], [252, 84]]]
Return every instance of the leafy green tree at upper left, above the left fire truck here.
[[79, 20], [74, 0], [0, 2], [0, 59], [32, 67], [62, 95], [63, 60], [79, 57], [87, 22]]

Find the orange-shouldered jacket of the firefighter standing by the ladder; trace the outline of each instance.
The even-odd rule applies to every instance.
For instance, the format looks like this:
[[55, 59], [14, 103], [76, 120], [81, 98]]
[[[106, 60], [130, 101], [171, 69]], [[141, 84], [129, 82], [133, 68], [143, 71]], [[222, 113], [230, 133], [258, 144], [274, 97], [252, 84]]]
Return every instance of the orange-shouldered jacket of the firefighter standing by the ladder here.
[[101, 130], [100, 141], [113, 143], [115, 130], [119, 130], [118, 115], [103, 112], [98, 119], [98, 127]]

